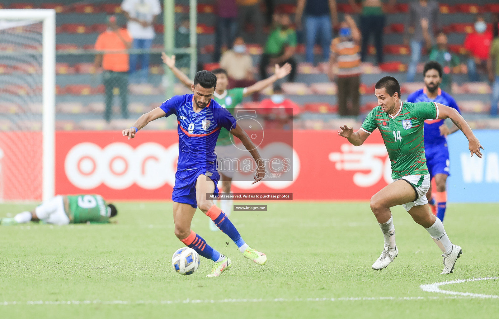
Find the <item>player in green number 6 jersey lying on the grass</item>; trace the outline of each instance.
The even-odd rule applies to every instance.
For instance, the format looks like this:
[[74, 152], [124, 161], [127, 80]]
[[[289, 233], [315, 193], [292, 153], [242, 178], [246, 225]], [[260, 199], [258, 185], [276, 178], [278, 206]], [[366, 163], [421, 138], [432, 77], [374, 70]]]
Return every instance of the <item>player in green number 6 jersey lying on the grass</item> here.
[[1, 225], [15, 225], [30, 221], [67, 225], [83, 223], [109, 223], [118, 211], [113, 204], [106, 204], [100, 195], [55, 196], [41, 203], [31, 212], [22, 212], [12, 218], [2, 218]]

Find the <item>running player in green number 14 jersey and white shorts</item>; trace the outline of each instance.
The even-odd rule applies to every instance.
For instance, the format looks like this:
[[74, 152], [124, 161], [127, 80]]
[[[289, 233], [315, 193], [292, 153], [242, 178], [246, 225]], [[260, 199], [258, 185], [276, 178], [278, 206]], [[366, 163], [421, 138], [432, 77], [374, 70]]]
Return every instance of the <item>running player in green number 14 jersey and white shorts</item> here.
[[378, 128], [385, 142], [395, 180], [371, 198], [371, 210], [378, 220], [385, 237], [385, 247], [372, 268], [386, 268], [399, 251], [395, 245], [395, 227], [390, 207], [403, 205], [416, 223], [423, 226], [442, 250], [444, 270], [450, 274], [462, 254], [461, 247], [453, 245], [440, 219], [430, 213], [425, 196], [430, 187], [430, 175], [426, 166], [423, 123], [426, 119], [450, 118], [463, 131], [469, 141], [471, 156], [482, 158], [482, 145], [459, 112], [436, 102], [408, 103], [400, 100], [400, 84], [394, 77], [385, 76], [376, 83], [376, 106], [360, 129], [353, 132], [348, 126], [340, 127], [338, 135], [359, 146]]

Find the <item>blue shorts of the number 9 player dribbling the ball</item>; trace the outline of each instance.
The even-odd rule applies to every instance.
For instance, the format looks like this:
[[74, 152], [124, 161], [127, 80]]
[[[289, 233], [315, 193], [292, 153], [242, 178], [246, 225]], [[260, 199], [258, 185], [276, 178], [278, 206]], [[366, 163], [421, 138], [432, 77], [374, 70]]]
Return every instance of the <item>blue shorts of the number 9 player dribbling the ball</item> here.
[[198, 208], [198, 203], [196, 201], [196, 181], [198, 180], [199, 175], [210, 175], [208, 177], [215, 184], [215, 191], [213, 191], [213, 193], [218, 195], [219, 190], [217, 183], [220, 180], [219, 173], [202, 167], [177, 171], [175, 174], [175, 187], [173, 188], [172, 200], [177, 203], [189, 204], [194, 208]]

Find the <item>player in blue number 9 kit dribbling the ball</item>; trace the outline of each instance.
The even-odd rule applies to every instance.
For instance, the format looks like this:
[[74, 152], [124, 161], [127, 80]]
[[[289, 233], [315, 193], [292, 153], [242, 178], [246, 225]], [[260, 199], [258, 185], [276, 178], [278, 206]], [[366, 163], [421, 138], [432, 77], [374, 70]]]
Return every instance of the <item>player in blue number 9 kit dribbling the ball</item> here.
[[217, 183], [220, 175], [215, 144], [222, 127], [239, 138], [255, 160], [257, 168], [253, 183], [265, 176], [264, 162], [248, 134], [240, 125], [236, 125], [236, 119], [227, 109], [212, 99], [216, 85], [215, 74], [199, 71], [191, 84], [194, 94], [169, 98], [160, 107], [139, 117], [133, 127], [122, 132], [123, 136], [131, 139], [147, 123], [172, 114], [177, 116], [179, 159], [172, 193], [175, 235], [187, 247], [215, 262], [207, 277], [220, 276], [222, 272], [231, 269], [232, 264], [227, 256], [217, 252], [191, 230], [192, 218], [198, 207], [236, 243], [244, 257], [260, 266], [267, 260], [265, 254], [251, 249], [245, 243], [227, 215], [207, 196], [219, 192]]

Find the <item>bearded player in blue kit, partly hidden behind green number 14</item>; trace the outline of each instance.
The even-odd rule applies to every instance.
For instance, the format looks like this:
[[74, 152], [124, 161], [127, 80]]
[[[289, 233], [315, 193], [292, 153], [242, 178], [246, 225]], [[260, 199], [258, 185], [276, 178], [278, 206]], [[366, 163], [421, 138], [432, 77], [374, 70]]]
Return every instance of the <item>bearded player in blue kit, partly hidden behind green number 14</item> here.
[[[449, 93], [442, 91], [442, 66], [436, 61], [425, 64], [424, 71], [425, 87], [412, 93], [407, 98], [408, 102], [437, 102], [449, 107], [453, 107], [460, 112], [456, 100]], [[460, 112], [461, 113], [461, 112]], [[431, 188], [426, 193], [428, 202], [437, 217], [444, 221], [445, 209], [447, 206], [446, 181], [449, 176], [449, 149], [447, 148], [446, 136], [458, 130], [452, 124], [449, 128], [444, 120], [426, 120], [424, 127], [426, 164], [430, 172], [430, 179], [435, 177], [437, 192], [435, 198], [432, 197]], [[435, 208], [436, 203], [436, 208]]]

